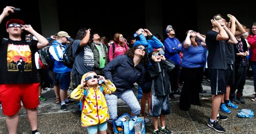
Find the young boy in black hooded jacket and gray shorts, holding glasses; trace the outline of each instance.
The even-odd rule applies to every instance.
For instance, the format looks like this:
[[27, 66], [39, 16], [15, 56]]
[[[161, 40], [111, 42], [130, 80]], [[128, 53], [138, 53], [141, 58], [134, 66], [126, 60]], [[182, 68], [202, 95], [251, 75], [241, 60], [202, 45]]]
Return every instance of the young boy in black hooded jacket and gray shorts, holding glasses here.
[[[170, 114], [168, 94], [170, 90], [169, 73], [175, 67], [172, 61], [165, 59], [158, 51], [152, 51], [148, 55], [152, 66], [150, 74], [152, 77], [152, 103], [154, 133], [172, 133], [165, 127], [165, 115]], [[161, 128], [158, 130], [158, 117], [160, 116]]]

